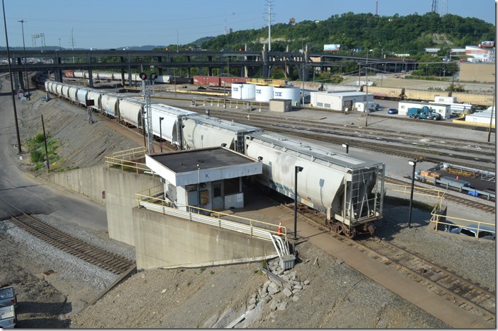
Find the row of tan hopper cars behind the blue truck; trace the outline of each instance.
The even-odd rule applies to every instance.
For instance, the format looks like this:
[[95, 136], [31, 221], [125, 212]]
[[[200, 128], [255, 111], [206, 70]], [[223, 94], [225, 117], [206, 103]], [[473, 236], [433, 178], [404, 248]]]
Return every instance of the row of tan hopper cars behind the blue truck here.
[[[415, 88], [392, 88], [381, 86], [369, 86], [369, 94], [373, 98], [386, 100], [412, 100], [412, 101], [434, 101], [436, 97], [453, 97], [457, 103], [470, 103], [475, 106], [489, 107], [493, 105], [493, 95], [473, 94], [455, 91], [430, 91]], [[361, 91], [366, 92], [366, 87], [361, 86]]]

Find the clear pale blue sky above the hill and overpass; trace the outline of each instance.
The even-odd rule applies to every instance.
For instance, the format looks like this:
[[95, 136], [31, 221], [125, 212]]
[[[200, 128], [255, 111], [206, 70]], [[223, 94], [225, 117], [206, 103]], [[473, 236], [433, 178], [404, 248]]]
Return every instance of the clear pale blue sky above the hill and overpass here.
[[[272, 24], [325, 20], [335, 14], [423, 15], [433, 0], [2, 0], [9, 47], [42, 45], [108, 50], [125, 46], [183, 45], [201, 37], [267, 27]], [[438, 13], [480, 18], [496, 25], [495, 1], [438, 0]], [[447, 4], [447, 10], [441, 8]], [[20, 23], [18, 21], [25, 21]], [[4, 25], [0, 46], [5, 47]]]

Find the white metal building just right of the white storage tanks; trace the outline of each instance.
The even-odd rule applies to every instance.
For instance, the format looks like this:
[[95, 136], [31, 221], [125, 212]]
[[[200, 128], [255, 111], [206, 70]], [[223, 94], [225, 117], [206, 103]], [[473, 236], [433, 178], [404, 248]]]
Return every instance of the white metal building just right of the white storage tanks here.
[[[364, 92], [311, 92], [310, 104], [312, 107], [326, 108], [330, 110], [352, 110], [354, 103], [366, 102]], [[369, 94], [369, 102], [373, 102], [373, 94]]]

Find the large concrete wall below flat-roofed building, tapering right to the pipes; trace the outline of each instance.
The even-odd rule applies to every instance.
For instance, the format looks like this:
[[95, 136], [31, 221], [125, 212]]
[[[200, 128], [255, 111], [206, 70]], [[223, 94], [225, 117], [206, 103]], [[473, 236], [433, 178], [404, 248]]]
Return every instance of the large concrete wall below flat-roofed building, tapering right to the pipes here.
[[137, 269], [223, 265], [277, 256], [270, 241], [144, 208], [132, 212]]

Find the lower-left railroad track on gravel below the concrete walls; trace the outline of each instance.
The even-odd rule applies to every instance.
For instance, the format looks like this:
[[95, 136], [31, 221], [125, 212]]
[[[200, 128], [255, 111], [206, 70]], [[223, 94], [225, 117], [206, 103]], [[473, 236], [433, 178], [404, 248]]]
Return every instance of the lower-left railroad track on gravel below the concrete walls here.
[[132, 261], [88, 245], [29, 215], [12, 216], [11, 220], [28, 233], [46, 243], [114, 274], [122, 274], [135, 266], [135, 263]]

